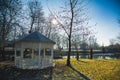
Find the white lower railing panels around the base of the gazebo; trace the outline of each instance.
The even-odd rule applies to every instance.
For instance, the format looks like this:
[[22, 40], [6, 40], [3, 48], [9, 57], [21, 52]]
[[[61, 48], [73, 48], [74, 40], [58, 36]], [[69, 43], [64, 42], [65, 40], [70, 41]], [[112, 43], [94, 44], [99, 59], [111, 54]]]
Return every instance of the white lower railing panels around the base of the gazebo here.
[[[20, 62], [21, 61], [21, 62]], [[38, 68], [38, 57], [36, 58], [16, 58], [16, 66], [23, 69], [35, 69]], [[21, 64], [20, 64], [21, 63]], [[50, 56], [42, 57], [40, 56], [40, 69], [51, 67], [53, 65]]]

